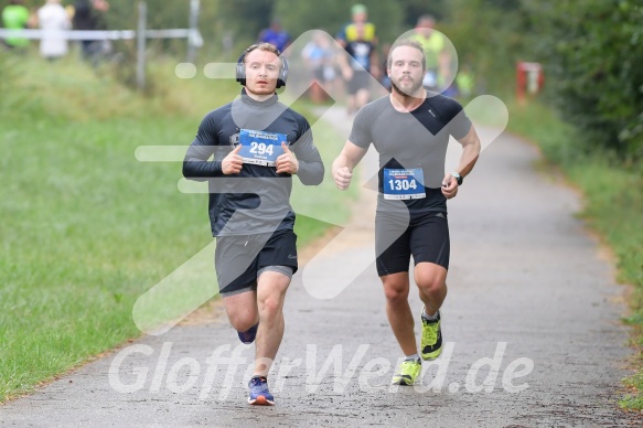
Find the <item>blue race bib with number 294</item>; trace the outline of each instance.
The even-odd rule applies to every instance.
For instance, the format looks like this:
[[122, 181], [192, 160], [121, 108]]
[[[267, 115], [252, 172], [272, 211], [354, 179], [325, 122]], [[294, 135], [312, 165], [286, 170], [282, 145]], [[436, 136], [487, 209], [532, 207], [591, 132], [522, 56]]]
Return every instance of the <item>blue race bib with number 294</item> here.
[[244, 163], [275, 167], [277, 158], [283, 154], [281, 142], [288, 145], [286, 133], [242, 129], [239, 131], [239, 143], [243, 145], [243, 148], [239, 150], [239, 156], [243, 158]]

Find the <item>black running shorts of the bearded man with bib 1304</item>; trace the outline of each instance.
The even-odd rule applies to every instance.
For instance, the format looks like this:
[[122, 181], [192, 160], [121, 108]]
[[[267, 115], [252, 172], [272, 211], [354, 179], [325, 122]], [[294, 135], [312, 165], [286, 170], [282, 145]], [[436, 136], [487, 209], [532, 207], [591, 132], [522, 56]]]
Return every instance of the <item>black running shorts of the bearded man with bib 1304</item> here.
[[375, 220], [377, 274], [383, 277], [406, 272], [414, 263], [428, 261], [449, 269], [449, 223], [447, 213], [429, 212], [399, 218], [377, 213]]

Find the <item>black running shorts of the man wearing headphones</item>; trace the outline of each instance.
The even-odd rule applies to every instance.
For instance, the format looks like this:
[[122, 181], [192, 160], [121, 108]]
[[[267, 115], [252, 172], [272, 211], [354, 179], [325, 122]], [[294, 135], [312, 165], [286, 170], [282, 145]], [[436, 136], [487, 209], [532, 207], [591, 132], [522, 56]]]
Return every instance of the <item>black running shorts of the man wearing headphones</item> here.
[[257, 278], [265, 270], [287, 276], [297, 271], [297, 235], [292, 231], [277, 231], [272, 234], [219, 236], [216, 238], [214, 266], [222, 296], [256, 290]]

